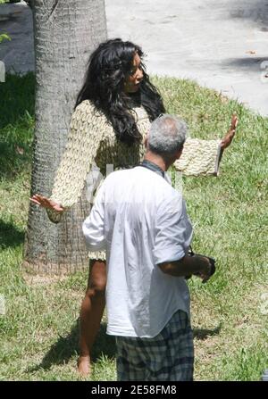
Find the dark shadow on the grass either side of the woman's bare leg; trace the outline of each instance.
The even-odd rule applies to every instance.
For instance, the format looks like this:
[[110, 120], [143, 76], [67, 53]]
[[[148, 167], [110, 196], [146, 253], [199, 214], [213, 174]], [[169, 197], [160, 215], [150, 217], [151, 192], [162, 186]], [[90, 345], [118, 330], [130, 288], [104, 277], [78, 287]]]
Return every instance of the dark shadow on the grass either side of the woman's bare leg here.
[[[79, 320], [71, 328], [67, 337], [59, 337], [57, 342], [51, 346], [42, 362], [35, 367], [29, 368], [28, 373], [42, 370], [49, 370], [55, 364], [68, 363], [73, 355], [78, 356], [79, 348]], [[108, 358], [115, 357], [115, 339], [106, 335], [106, 323], [102, 323], [96, 337], [91, 353], [92, 362], [96, 362], [103, 354]]]

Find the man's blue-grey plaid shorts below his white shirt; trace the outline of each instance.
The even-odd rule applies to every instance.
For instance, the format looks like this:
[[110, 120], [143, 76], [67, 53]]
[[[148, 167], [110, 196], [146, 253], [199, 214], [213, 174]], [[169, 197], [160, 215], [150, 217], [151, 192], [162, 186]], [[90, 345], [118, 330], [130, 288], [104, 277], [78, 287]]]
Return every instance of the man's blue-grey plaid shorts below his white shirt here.
[[154, 338], [116, 337], [118, 381], [192, 381], [193, 332], [178, 311]]

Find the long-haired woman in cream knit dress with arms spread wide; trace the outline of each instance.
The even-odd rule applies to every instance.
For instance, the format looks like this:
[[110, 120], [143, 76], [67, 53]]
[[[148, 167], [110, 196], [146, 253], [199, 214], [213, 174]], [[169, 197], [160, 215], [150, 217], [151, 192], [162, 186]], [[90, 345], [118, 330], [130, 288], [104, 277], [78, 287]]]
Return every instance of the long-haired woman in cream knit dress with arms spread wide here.
[[[46, 207], [50, 220], [58, 222], [63, 211], [78, 201], [93, 162], [105, 176], [107, 164], [124, 168], [143, 159], [150, 122], [165, 110], [162, 97], [147, 76], [142, 56], [139, 46], [121, 39], [108, 40], [91, 54], [52, 195], [31, 198], [33, 203]], [[233, 116], [222, 140], [188, 139], [176, 169], [185, 175], [214, 174], [236, 124]], [[89, 353], [105, 309], [105, 253], [90, 253], [89, 258], [88, 288], [80, 311], [78, 365], [82, 375], [90, 370]]]

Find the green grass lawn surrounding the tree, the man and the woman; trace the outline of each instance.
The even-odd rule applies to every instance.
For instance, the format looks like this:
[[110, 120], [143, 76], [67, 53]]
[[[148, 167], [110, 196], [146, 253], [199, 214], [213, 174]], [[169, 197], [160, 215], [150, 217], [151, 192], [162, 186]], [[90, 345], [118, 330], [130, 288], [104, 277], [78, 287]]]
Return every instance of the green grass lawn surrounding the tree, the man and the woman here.
[[[268, 119], [213, 90], [179, 79], [154, 79], [167, 111], [192, 137], [222, 137], [239, 115], [218, 178], [187, 178], [183, 192], [194, 224], [193, 246], [217, 260], [214, 278], [189, 281], [197, 380], [258, 380], [268, 368]], [[0, 379], [75, 380], [80, 302], [87, 273], [59, 277], [21, 270], [34, 129], [34, 77], [0, 84]], [[265, 302], [266, 300], [266, 302]], [[2, 303], [3, 304], [3, 303]], [[0, 303], [1, 310], [1, 303]], [[114, 341], [105, 318], [91, 379], [115, 379]]]

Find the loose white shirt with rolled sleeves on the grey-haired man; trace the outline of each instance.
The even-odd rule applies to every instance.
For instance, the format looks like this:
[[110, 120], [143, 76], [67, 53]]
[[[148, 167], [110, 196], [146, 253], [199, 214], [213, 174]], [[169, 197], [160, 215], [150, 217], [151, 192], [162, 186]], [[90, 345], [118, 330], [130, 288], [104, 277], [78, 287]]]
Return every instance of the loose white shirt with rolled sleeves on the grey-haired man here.
[[138, 166], [111, 173], [83, 223], [89, 250], [106, 249], [107, 334], [155, 337], [179, 309], [189, 314], [185, 278], [157, 264], [188, 253], [192, 228], [182, 195]]

